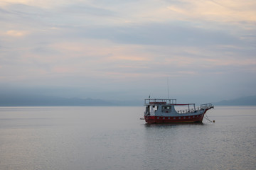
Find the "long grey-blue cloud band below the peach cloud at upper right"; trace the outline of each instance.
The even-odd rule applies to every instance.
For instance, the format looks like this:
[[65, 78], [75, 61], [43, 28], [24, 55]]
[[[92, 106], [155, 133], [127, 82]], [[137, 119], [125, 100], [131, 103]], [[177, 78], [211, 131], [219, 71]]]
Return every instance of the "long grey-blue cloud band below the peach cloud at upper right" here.
[[129, 24], [127, 26], [95, 26], [74, 28], [73, 34], [83, 38], [105, 39], [123, 44], [141, 45], [238, 45], [242, 40], [225, 30], [196, 28], [183, 23]]

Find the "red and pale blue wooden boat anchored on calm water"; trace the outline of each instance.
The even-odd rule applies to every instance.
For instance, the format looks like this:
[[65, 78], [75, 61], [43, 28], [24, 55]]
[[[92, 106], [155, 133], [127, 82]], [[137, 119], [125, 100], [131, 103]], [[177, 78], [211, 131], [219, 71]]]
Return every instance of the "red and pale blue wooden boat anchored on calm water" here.
[[157, 98], [144, 99], [144, 106], [146, 123], [202, 123], [206, 112], [214, 108], [211, 103], [201, 104], [196, 108], [195, 103], [178, 104], [176, 99]]

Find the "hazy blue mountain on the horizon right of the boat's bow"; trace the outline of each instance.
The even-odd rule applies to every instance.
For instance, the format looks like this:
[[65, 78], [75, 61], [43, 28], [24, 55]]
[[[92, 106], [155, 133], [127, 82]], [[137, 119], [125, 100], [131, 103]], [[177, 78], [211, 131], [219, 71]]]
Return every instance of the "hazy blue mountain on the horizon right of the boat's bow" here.
[[256, 106], [256, 96], [247, 96], [228, 101], [219, 101], [214, 104], [219, 106]]

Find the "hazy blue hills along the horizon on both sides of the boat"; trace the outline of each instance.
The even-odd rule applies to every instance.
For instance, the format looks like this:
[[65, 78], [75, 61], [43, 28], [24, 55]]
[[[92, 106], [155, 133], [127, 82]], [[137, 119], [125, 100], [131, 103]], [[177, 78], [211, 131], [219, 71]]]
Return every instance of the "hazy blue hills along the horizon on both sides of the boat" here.
[[[105, 101], [92, 98], [63, 98], [26, 93], [0, 93], [0, 106], [143, 106], [143, 100]], [[256, 106], [256, 96], [213, 103], [215, 106]]]

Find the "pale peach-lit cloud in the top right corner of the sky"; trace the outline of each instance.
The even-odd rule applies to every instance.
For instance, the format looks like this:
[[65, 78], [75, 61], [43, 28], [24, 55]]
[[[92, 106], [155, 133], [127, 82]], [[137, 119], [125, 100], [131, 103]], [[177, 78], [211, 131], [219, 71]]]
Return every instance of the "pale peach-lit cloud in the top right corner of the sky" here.
[[[178, 19], [198, 18], [215, 22], [256, 21], [255, 1], [182, 1], [167, 6]], [[178, 15], [179, 14], [179, 15]]]

